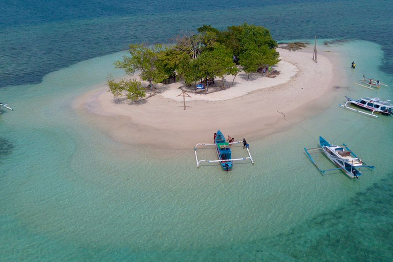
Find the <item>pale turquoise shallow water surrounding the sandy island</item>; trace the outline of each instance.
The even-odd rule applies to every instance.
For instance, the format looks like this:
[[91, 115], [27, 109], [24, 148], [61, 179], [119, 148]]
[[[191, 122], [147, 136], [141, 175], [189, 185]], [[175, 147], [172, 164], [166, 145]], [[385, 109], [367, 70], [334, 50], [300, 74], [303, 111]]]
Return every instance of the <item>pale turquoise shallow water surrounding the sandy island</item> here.
[[[389, 260], [391, 117], [372, 119], [338, 104], [343, 94], [392, 95], [351, 84], [363, 71], [388, 84], [391, 78], [376, 70], [383, 53], [375, 43], [320, 52], [332, 48], [358, 64], [356, 71], [337, 65], [348, 71], [348, 86], [337, 89], [336, 101], [285, 132], [249, 141], [255, 165], [228, 174], [195, 168], [192, 148], [180, 159], [151, 158], [75, 114], [78, 95], [109, 72], [119, 74], [112, 62], [122, 53], [19, 86], [20, 95], [1, 90], [15, 107], [0, 119], [7, 145], [0, 156], [1, 259]], [[348, 144], [376, 170], [359, 180], [340, 171], [321, 176], [303, 154], [319, 135]]]

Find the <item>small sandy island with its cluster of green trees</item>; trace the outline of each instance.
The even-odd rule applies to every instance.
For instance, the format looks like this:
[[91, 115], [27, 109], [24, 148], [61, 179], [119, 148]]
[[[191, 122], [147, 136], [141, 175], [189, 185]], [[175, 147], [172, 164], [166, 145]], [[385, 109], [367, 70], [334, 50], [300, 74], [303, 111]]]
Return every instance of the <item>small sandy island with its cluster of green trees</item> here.
[[[115, 63], [128, 76], [79, 97], [78, 114], [116, 141], [167, 158], [210, 142], [217, 129], [252, 141], [290, 128], [328, 107], [344, 84], [334, 52], [320, 52], [316, 63], [309, 45], [277, 44], [269, 30], [247, 24], [198, 32], [170, 48], [130, 46], [133, 58]], [[195, 94], [201, 83], [209, 92]]]

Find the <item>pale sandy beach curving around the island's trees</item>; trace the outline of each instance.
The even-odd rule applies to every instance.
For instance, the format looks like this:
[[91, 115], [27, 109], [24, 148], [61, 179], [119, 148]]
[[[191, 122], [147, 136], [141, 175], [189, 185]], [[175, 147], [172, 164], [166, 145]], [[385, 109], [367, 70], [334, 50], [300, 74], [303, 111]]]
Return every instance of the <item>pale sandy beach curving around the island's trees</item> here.
[[[163, 149], [189, 149], [197, 143], [212, 143], [221, 129], [236, 141], [248, 141], [280, 132], [324, 110], [343, 85], [335, 69], [335, 55], [318, 54], [312, 48], [291, 52], [278, 49], [281, 62], [276, 78], [240, 73], [229, 89], [204, 95], [189, 93], [186, 110], [179, 87], [165, 85], [165, 91], [135, 105], [115, 103], [106, 83], [80, 96], [74, 106], [81, 115], [112, 139], [143, 145], [150, 152]], [[233, 76], [228, 77], [232, 82]], [[340, 82], [341, 81], [341, 82]], [[285, 119], [284, 116], [285, 115]], [[288, 121], [287, 121], [288, 120]], [[289, 122], [290, 121], [290, 122]]]

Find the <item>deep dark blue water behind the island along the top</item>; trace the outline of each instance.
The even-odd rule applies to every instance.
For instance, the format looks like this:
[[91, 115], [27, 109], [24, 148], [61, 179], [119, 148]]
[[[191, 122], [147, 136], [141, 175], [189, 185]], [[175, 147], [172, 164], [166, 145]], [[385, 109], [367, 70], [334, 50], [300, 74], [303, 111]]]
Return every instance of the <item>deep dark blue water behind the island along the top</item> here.
[[393, 72], [390, 1], [0, 1], [0, 87], [37, 83], [49, 72], [127, 49], [168, 42], [203, 24], [244, 22], [275, 39], [347, 38], [382, 46]]

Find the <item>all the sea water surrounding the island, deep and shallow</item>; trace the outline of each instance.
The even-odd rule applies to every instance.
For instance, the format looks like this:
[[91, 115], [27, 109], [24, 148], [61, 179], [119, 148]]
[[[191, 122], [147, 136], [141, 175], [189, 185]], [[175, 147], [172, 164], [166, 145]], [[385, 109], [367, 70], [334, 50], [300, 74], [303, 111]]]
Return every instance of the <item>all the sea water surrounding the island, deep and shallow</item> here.
[[[391, 261], [391, 117], [338, 107], [393, 96], [389, 1], [0, 1], [0, 261]], [[250, 23], [278, 40], [346, 39], [323, 112], [251, 143], [255, 165], [197, 169], [111, 140], [74, 111], [131, 42]], [[356, 61], [357, 68], [348, 67]], [[389, 88], [352, 84], [374, 76]], [[316, 84], [318, 84], [316, 82]], [[290, 119], [288, 119], [290, 121]], [[376, 166], [321, 176], [322, 135]]]

